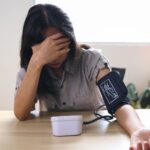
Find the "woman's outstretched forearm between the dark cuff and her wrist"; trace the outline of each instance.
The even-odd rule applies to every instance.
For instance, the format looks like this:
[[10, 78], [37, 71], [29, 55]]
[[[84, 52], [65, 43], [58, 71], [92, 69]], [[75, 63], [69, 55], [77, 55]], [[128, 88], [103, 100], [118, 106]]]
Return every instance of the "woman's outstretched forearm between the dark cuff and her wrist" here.
[[115, 115], [119, 124], [130, 136], [134, 131], [144, 127], [136, 111], [130, 105], [120, 107]]

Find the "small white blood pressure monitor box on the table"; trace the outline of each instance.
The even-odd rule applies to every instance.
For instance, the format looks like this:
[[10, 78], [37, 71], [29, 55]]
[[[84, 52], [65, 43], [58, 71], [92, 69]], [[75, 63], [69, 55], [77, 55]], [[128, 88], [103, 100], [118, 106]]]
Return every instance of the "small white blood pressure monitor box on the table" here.
[[55, 136], [79, 135], [82, 133], [82, 115], [51, 117], [52, 134]]

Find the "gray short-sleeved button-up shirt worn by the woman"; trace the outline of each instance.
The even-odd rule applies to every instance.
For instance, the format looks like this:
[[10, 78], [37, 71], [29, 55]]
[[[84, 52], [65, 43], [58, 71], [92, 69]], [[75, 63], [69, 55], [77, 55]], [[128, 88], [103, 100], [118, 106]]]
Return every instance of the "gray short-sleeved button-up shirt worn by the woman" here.
[[[96, 76], [105, 66], [109, 67], [109, 62], [100, 50], [83, 50], [73, 63], [66, 62], [61, 79], [49, 68], [57, 95], [46, 94], [38, 99], [44, 102], [47, 110], [94, 110], [104, 104], [96, 85]], [[19, 70], [16, 89], [25, 73], [25, 69]]]

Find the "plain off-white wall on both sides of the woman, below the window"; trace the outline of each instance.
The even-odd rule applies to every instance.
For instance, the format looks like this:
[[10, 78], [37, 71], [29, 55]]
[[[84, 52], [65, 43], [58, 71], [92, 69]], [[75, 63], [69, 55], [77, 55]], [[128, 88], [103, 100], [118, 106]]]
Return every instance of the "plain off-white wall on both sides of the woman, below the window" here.
[[[34, 0], [3, 0], [0, 5], [0, 110], [12, 110], [22, 26]], [[141, 93], [150, 81], [150, 43], [90, 43], [102, 49], [113, 67], [126, 68], [125, 84]]]

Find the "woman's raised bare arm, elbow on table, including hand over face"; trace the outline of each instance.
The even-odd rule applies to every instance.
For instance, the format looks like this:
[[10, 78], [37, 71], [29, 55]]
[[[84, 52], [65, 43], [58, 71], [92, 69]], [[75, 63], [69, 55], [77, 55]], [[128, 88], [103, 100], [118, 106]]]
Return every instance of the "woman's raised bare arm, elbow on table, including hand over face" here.
[[68, 38], [64, 38], [61, 33], [56, 33], [32, 47], [33, 55], [15, 95], [14, 114], [19, 120], [26, 120], [35, 105], [43, 66], [68, 53], [69, 44]]

